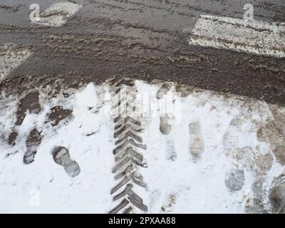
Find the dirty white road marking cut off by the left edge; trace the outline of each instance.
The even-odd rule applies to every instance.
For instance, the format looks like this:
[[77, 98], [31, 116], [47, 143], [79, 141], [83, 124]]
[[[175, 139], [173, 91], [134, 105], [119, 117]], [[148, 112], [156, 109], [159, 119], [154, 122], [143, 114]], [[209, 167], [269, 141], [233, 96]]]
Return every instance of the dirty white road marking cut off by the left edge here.
[[9, 73], [21, 65], [31, 56], [32, 52], [23, 46], [16, 46], [13, 43], [6, 43], [0, 46], [0, 82], [9, 75]]

